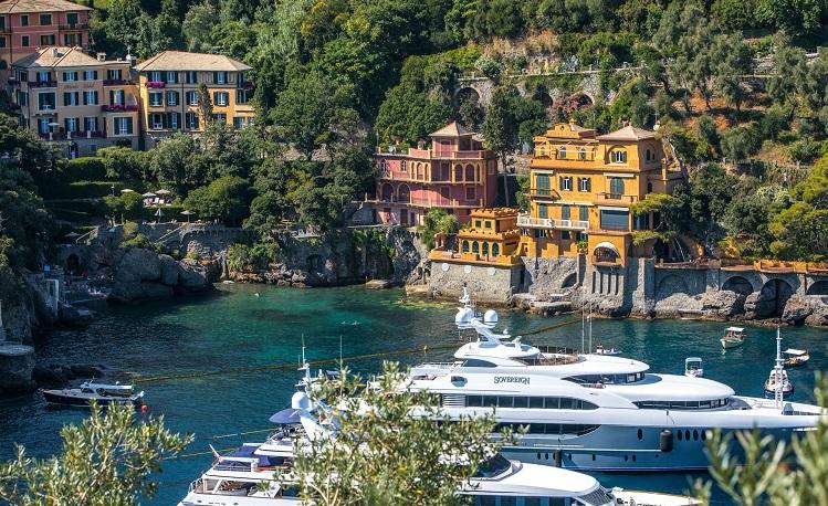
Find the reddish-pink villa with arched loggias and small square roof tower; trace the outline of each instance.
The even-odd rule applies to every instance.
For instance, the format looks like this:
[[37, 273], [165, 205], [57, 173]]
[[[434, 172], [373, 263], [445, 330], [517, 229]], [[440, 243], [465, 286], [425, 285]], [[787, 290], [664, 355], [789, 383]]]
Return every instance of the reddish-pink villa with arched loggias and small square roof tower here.
[[430, 148], [422, 145], [407, 154], [379, 150], [374, 156], [374, 221], [415, 225], [429, 209], [442, 208], [464, 223], [473, 209], [493, 207], [497, 158], [475, 136], [453, 122], [429, 136]]

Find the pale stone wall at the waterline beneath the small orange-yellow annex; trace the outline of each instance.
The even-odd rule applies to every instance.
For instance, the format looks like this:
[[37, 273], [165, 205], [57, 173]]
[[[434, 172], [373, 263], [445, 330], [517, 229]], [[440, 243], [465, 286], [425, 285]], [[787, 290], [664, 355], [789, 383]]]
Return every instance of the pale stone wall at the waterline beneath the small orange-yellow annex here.
[[481, 265], [432, 262], [428, 285], [432, 296], [455, 298], [468, 286], [476, 302], [509, 304], [520, 285], [523, 267], [493, 267]]

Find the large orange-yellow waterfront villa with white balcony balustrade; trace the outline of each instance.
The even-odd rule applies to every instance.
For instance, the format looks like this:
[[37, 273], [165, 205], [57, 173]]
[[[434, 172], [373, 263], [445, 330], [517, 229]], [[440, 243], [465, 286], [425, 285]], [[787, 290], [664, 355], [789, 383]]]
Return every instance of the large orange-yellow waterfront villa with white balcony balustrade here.
[[518, 217], [521, 253], [574, 256], [586, 251], [594, 264], [626, 264], [647, 254], [632, 232], [657, 225], [656, 217], [632, 215], [629, 207], [651, 193], [671, 193], [682, 179], [669, 170], [653, 131], [625, 126], [606, 135], [574, 122], [535, 137], [530, 213]]

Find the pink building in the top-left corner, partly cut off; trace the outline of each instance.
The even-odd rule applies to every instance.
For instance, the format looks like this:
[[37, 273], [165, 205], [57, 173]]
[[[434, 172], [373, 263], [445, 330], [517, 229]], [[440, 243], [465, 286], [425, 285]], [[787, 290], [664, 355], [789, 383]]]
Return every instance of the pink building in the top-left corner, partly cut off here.
[[[90, 45], [90, 9], [66, 0], [0, 2], [0, 72], [38, 48]], [[4, 83], [3, 83], [4, 84]]]

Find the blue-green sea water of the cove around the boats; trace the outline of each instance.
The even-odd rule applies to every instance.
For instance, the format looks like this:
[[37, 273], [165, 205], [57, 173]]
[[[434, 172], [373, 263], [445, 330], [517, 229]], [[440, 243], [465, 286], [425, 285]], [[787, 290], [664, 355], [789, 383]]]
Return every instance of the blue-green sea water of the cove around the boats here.
[[[303, 341], [308, 360], [387, 354], [348, 361], [348, 367], [364, 373], [377, 372], [384, 359], [449, 360], [453, 350], [444, 345], [460, 346], [453, 326], [455, 307], [407, 299], [397, 289], [220, 285], [218, 294], [203, 298], [114, 307], [86, 329], [55, 331], [38, 352], [43, 362], [99, 363], [119, 371], [123, 379], [145, 390], [149, 414], [163, 414], [172, 430], [195, 434], [184, 456], [164, 463], [156, 476], [158, 495], [144, 500], [176, 505], [189, 483], [209, 467], [208, 445], [231, 449], [264, 438], [268, 418], [286, 408], [295, 391]], [[507, 327], [513, 335], [533, 333], [525, 338], [528, 342], [581, 346], [579, 316], [543, 318], [506, 310], [500, 316], [499, 328]], [[719, 344], [725, 326], [595, 319], [593, 347], [600, 341], [620, 348], [658, 372], [683, 373], [684, 358], [700, 356], [708, 378], [729, 383], [740, 394], [761, 397], [773, 367], [776, 330], [748, 327], [748, 342], [725, 355]], [[794, 399], [813, 401], [814, 373], [828, 365], [828, 331], [784, 328], [783, 336], [784, 347], [811, 352], [810, 365], [789, 373], [796, 387]], [[0, 401], [0, 458], [11, 457], [15, 444], [25, 445], [32, 455], [49, 456], [60, 450], [61, 428], [83, 419], [82, 410], [48, 409], [36, 393]], [[244, 432], [249, 433], [229, 435]], [[705, 477], [596, 475], [605, 486], [674, 493], [688, 489], [700, 476]], [[716, 502], [727, 504], [722, 497]]]

